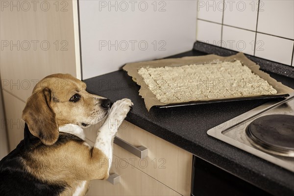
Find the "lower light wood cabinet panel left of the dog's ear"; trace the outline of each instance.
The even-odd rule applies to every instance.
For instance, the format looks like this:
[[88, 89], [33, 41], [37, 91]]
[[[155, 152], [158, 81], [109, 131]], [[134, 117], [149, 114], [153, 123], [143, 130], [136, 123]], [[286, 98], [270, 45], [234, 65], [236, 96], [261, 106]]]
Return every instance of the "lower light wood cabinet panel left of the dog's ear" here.
[[[22, 120], [22, 112], [25, 103], [5, 90], [3, 92], [3, 101], [5, 103], [6, 128], [9, 139], [10, 151], [16, 148], [21, 140], [24, 139], [25, 122]], [[1, 122], [2, 124], [2, 122]]]

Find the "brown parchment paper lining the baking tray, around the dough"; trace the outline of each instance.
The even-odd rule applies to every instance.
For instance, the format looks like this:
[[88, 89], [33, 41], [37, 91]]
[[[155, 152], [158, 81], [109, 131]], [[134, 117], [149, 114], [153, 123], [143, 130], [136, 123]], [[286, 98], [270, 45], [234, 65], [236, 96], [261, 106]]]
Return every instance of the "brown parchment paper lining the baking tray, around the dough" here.
[[[171, 104], [160, 102], [155, 95], [149, 90], [147, 84], [143, 80], [143, 78], [138, 74], [138, 70], [141, 67], [177, 67], [182, 65], [190, 65], [190, 64], [204, 64], [210, 63], [213, 61], [234, 61], [240, 60], [242, 64], [249, 67], [253, 73], [257, 74], [260, 78], [266, 80], [273, 88], [277, 90], [277, 94], [275, 95], [260, 95], [254, 97], [275, 97], [275, 96], [289, 96], [289, 94], [293, 93], [294, 90], [288, 86], [283, 85], [280, 82], [277, 82], [275, 79], [271, 78], [269, 74], [259, 70], [259, 65], [255, 62], [249, 60], [243, 53], [238, 53], [233, 56], [217, 56], [217, 55], [206, 55], [206, 56], [186, 56], [182, 58], [168, 58], [168, 59], [161, 59], [161, 60], [152, 60], [152, 61], [143, 61], [143, 62], [136, 62], [136, 63], [127, 63], [123, 66], [123, 70], [127, 71], [127, 74], [132, 77], [133, 81], [135, 81], [138, 85], [141, 86], [139, 90], [139, 95], [145, 101], [145, 106], [149, 111], [153, 106], [169, 106]], [[252, 96], [250, 96], [252, 97]], [[248, 97], [240, 97], [240, 99], [249, 98]], [[231, 98], [236, 99], [236, 97]], [[214, 102], [214, 101], [225, 101], [230, 100], [230, 98], [218, 98], [218, 99], [205, 99], [200, 101], [192, 101], [186, 103], [197, 103], [197, 102]], [[183, 105], [185, 103], [179, 103]]]

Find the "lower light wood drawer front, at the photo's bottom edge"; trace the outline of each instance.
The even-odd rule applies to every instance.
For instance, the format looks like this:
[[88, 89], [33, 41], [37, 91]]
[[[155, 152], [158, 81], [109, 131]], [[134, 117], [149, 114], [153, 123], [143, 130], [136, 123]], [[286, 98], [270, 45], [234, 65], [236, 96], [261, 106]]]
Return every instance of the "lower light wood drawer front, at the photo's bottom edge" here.
[[118, 174], [120, 182], [113, 185], [107, 180], [92, 180], [87, 196], [180, 196], [115, 155], [112, 162], [110, 173]]

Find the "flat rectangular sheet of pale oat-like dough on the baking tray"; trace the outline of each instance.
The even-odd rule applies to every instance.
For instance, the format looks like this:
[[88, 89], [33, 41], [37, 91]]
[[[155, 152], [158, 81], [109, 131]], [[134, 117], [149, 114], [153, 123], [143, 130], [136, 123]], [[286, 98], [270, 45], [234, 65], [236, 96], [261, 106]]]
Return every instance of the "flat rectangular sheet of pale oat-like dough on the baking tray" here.
[[138, 73], [156, 98], [166, 104], [277, 93], [239, 60], [141, 67]]

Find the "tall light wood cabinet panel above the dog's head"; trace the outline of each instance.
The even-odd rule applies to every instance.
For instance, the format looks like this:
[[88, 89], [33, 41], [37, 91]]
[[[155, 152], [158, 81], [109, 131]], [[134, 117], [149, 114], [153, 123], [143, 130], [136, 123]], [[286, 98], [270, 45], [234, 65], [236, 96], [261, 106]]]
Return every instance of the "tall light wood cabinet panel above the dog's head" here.
[[0, 1], [0, 74], [5, 90], [26, 100], [34, 84], [49, 74], [77, 77], [72, 0]]

